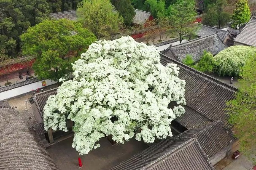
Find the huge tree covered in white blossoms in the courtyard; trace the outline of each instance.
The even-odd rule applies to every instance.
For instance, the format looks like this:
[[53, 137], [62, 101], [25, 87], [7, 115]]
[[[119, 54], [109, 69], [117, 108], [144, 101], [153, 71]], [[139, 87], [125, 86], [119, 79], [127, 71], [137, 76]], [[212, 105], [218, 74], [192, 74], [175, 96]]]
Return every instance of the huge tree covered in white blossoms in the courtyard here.
[[[176, 64], [160, 64], [153, 46], [132, 37], [98, 41], [73, 65], [73, 80], [63, 81], [44, 107], [45, 129], [73, 126], [73, 147], [88, 154], [107, 135], [124, 143], [172, 136], [170, 123], [185, 112], [185, 81]], [[168, 109], [174, 101], [175, 106]], [[136, 133], [137, 132], [137, 133]]]

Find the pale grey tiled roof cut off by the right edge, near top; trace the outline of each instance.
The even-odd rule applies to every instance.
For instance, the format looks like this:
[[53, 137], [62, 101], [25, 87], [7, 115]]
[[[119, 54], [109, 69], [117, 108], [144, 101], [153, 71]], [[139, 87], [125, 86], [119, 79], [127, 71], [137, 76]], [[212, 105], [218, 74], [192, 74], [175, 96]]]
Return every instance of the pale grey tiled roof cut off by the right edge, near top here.
[[235, 42], [244, 45], [256, 47], [256, 17], [251, 20], [243, 28], [242, 32], [234, 39]]

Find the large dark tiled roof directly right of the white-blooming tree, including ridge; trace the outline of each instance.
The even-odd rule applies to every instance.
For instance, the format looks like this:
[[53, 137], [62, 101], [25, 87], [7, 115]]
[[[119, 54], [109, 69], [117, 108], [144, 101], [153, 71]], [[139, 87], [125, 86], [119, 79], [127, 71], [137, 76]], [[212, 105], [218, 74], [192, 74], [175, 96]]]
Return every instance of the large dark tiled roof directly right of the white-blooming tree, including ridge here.
[[[209, 120], [222, 120], [222, 122], [226, 124], [226, 120], [228, 119], [228, 115], [224, 110], [226, 108], [226, 101], [234, 98], [234, 93], [237, 91], [237, 88], [192, 69], [167, 56], [162, 54], [160, 54], [160, 56], [160, 62], [164, 66], [166, 66], [167, 63], [178, 64], [178, 67], [180, 67], [179, 78], [186, 82], [186, 106], [190, 109], [187, 109], [177, 121], [187, 129], [198, 127]], [[201, 115], [201, 119], [199, 119], [198, 114]]]

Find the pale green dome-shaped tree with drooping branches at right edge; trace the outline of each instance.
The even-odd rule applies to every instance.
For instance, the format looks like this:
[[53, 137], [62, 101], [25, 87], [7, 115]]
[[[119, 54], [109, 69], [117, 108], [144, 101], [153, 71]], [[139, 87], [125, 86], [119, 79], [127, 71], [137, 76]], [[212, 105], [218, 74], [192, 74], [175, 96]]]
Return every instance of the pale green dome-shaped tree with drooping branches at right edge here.
[[214, 58], [219, 75], [239, 76], [240, 69], [256, 53], [256, 48], [236, 45], [219, 52]]

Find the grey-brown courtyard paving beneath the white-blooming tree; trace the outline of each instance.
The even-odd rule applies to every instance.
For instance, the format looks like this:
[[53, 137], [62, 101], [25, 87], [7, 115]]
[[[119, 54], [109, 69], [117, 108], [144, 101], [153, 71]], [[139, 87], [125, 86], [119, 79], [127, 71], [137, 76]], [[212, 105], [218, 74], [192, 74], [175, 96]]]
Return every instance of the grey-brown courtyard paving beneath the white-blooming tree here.
[[[76, 170], [78, 152], [72, 148], [73, 137], [50, 146], [47, 150], [60, 170]], [[112, 146], [107, 138], [100, 139], [100, 148], [86, 155], [80, 155], [83, 167], [81, 170], [108, 170], [148, 146], [135, 139]]]

